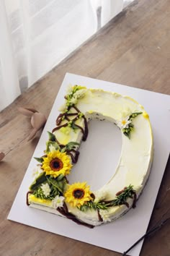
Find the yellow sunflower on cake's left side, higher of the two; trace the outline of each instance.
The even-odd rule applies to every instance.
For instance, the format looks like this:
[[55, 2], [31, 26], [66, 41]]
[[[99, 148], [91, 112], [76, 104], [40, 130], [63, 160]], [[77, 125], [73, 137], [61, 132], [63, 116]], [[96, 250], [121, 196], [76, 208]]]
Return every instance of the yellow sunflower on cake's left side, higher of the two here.
[[61, 153], [59, 150], [53, 150], [43, 157], [42, 169], [46, 175], [51, 175], [54, 178], [60, 174], [66, 176], [70, 173], [72, 164], [71, 158], [65, 153]]

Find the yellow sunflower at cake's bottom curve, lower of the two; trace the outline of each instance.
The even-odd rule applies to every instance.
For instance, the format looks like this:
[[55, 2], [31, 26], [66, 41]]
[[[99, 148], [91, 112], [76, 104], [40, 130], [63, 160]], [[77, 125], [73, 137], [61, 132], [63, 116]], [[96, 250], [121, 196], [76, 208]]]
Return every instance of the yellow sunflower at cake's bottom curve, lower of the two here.
[[78, 208], [84, 205], [85, 202], [92, 200], [91, 191], [89, 190], [89, 186], [86, 186], [86, 182], [68, 185], [64, 197], [66, 198], [66, 202], [69, 202], [72, 207]]

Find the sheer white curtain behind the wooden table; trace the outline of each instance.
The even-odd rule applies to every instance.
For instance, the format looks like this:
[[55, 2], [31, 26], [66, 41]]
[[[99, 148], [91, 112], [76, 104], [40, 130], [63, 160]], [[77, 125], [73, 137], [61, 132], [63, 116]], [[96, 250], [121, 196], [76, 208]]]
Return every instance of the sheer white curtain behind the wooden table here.
[[123, 4], [0, 0], [0, 111], [119, 13]]

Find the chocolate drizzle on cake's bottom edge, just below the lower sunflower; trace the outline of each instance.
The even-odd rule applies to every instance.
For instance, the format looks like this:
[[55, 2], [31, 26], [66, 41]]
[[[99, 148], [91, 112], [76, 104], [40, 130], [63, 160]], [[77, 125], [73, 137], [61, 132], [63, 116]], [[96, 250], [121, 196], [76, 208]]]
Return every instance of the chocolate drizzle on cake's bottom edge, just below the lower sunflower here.
[[79, 224], [79, 225], [83, 225], [83, 226], [87, 226], [90, 229], [93, 229], [94, 226], [82, 221], [79, 221], [78, 218], [76, 218], [76, 216], [74, 216], [72, 213], [68, 213], [68, 208], [66, 203], [64, 202], [63, 207], [58, 207], [56, 210], [58, 210], [59, 213], [61, 213], [63, 216], [65, 216], [66, 218], [69, 218], [71, 221]]

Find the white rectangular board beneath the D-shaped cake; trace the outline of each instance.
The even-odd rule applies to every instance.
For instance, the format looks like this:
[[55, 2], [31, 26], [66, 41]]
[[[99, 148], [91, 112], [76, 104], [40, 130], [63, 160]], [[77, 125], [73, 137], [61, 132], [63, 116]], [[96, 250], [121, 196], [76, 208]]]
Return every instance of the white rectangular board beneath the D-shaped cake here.
[[[45, 141], [48, 140], [47, 131], [51, 131], [55, 127], [55, 119], [59, 114], [58, 108], [63, 104], [63, 97], [66, 95], [66, 89], [69, 84], [84, 85], [87, 88], [102, 88], [104, 90], [117, 92], [122, 95], [129, 95], [145, 107], [151, 118], [155, 149], [151, 175], [148, 183], [146, 184], [146, 188], [144, 189], [143, 194], [140, 196], [135, 210], [130, 210], [125, 216], [115, 222], [108, 223], [103, 226], [98, 226], [94, 229], [89, 229], [84, 226], [79, 226], [67, 218], [62, 218], [51, 213], [29, 208], [26, 205], [25, 198], [28, 187], [32, 182], [32, 169], [37, 164], [35, 159], [32, 157], [30, 165], [27, 168], [27, 172], [17, 193], [17, 197], [15, 198], [12, 205], [8, 219], [11, 221], [17, 221], [19, 223], [24, 223], [28, 226], [33, 226], [37, 229], [43, 229], [45, 231], [50, 231], [62, 236], [68, 236], [72, 239], [76, 239], [82, 242], [104, 247], [106, 249], [114, 250], [117, 252], [125, 252], [125, 250], [127, 250], [134, 242], [136, 242], [140, 236], [143, 236], [143, 234], [146, 233], [153, 206], [156, 201], [158, 189], [161, 184], [161, 179], [164, 175], [166, 163], [169, 158], [170, 137], [167, 135], [167, 127], [170, 127], [170, 96], [160, 93], [153, 93], [147, 90], [131, 88], [125, 85], [118, 85], [112, 82], [95, 80], [89, 77], [82, 77], [76, 74], [66, 74], [33, 156], [40, 157], [42, 155], [43, 150], [45, 149]], [[99, 127], [100, 125], [104, 125], [103, 123], [104, 122], [99, 122]], [[92, 125], [91, 131], [89, 131], [89, 133], [92, 132], [92, 135], [94, 135], [96, 128], [97, 124], [94, 122], [94, 125]], [[104, 129], [106, 129], [106, 127], [104, 127]], [[111, 130], [109, 125], [107, 132], [105, 132], [104, 129], [104, 135], [109, 134]], [[117, 133], [117, 131], [115, 132]], [[115, 146], [113, 147], [115, 153], [113, 154], [112, 150], [110, 150], [110, 145], [104, 146], [103, 144], [104, 140], [107, 140], [108, 142], [108, 135], [107, 137], [104, 137], [103, 140], [101, 130], [98, 132], [98, 134], [99, 142], [101, 140], [102, 145], [99, 143], [100, 150], [97, 150], [96, 159], [103, 157], [104, 159], [107, 158], [107, 161], [104, 162], [105, 170], [108, 169], [111, 171], [111, 173], [106, 174], [105, 170], [93, 170], [96, 177], [95, 183], [102, 185], [104, 184], [103, 182], [105, 182], [105, 179], [109, 179], [109, 177], [112, 176], [112, 172], [115, 167], [109, 169], [109, 166], [111, 165], [113, 155], [119, 155], [120, 153], [120, 151], [118, 154], [116, 153], [117, 143], [120, 143], [120, 138], [119, 136], [112, 137], [111, 141], [115, 141]], [[86, 150], [86, 147], [84, 146], [86, 143], [89, 145], [89, 150]], [[91, 154], [90, 148], [92, 146], [93, 142], [89, 138], [87, 139], [87, 142], [81, 143], [82, 154], [84, 154], [84, 157], [79, 159], [79, 166], [89, 166], [89, 164], [86, 164], [86, 159], [88, 158], [88, 154]], [[96, 145], [96, 148], [98, 148], [98, 145]], [[120, 150], [120, 148], [121, 147], [118, 147], [118, 150]], [[84, 158], [86, 159], [84, 160]], [[114, 161], [117, 161], [117, 156], [115, 157]], [[76, 170], [76, 166], [74, 170]], [[74, 173], [75, 172], [76, 171], [74, 171]], [[90, 182], [90, 174], [91, 172], [86, 172], [86, 176], [84, 176], [86, 180], [84, 181]], [[77, 179], [77, 175], [73, 175], [75, 175], [75, 178]], [[81, 176], [80, 172], [79, 175]], [[71, 176], [71, 179], [73, 179], [73, 176]], [[93, 189], [93, 186], [95, 186], [94, 182], [92, 182], [91, 186]], [[138, 244], [129, 253], [129, 255], [138, 256], [140, 254], [142, 244], [143, 242], [140, 242], [140, 244]]]

